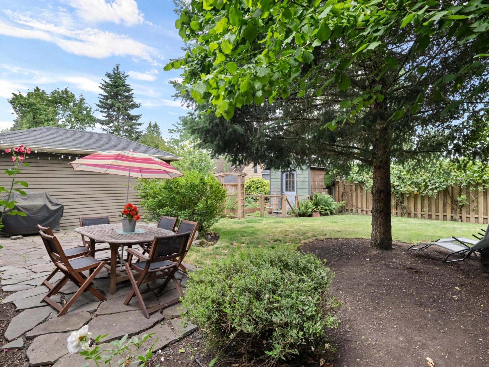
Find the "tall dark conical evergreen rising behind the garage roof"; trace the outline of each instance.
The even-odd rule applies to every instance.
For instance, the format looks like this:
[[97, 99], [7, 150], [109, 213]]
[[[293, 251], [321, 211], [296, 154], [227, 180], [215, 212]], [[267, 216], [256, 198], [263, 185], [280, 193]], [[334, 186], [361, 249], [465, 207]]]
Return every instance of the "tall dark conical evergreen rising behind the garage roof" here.
[[112, 72], [105, 73], [107, 80], [103, 80], [100, 89], [97, 111], [102, 113], [104, 119], [99, 119], [102, 130], [106, 133], [120, 137], [137, 140], [141, 137], [137, 122], [141, 115], [133, 115], [131, 111], [141, 106], [134, 101], [133, 88], [126, 82], [128, 75], [119, 69], [117, 64]]

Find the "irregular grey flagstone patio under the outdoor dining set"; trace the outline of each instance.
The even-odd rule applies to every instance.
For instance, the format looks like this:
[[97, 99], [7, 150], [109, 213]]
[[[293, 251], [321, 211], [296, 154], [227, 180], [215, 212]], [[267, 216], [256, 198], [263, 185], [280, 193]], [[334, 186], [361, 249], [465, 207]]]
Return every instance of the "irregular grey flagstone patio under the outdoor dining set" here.
[[[55, 235], [64, 248], [81, 244], [80, 235], [73, 230], [56, 231]], [[1, 301], [13, 302], [17, 310], [22, 310], [8, 324], [4, 337], [9, 343], [3, 345], [2, 349], [26, 347], [30, 366], [81, 366], [85, 362], [84, 358], [68, 353], [67, 337], [72, 330], [77, 330], [85, 324], [89, 325], [93, 337], [109, 333], [109, 336], [103, 340], [104, 343], [120, 339], [125, 334], [142, 337], [144, 334], [155, 333], [142, 345], [140, 351], [149, 348], [156, 339], [158, 341], [154, 350], [161, 349], [197, 329], [194, 325], [187, 327], [180, 325], [179, 315], [183, 310], [180, 309], [179, 303], [153, 313], [149, 319], [141, 313], [136, 298], [125, 306], [123, 301], [131, 289], [131, 284], [129, 281], [118, 283], [117, 292], [110, 294], [109, 277], [105, 269], [99, 273], [93, 283], [96, 289], [104, 292], [107, 300], [101, 302], [91, 293], [85, 292], [66, 315], [58, 318], [54, 308], [40, 302], [48, 289], [39, 284], [53, 270], [41, 238], [39, 236], [26, 236], [18, 240], [0, 238], [0, 244], [3, 246], [0, 253], [1, 288], [4, 292], [14, 292]], [[109, 252], [97, 252], [98, 258], [109, 256]], [[193, 269], [188, 264], [185, 266], [187, 269]], [[51, 282], [59, 278], [61, 278], [60, 272]], [[187, 275], [181, 272], [177, 273], [177, 278], [182, 286], [188, 279]], [[68, 282], [60, 294], [53, 299], [64, 303], [76, 289], [71, 282]], [[165, 292], [159, 297], [154, 292], [144, 295], [150, 306], [176, 297], [178, 292], [173, 282], [168, 284]], [[5, 351], [4, 357], [8, 358], [8, 350]]]

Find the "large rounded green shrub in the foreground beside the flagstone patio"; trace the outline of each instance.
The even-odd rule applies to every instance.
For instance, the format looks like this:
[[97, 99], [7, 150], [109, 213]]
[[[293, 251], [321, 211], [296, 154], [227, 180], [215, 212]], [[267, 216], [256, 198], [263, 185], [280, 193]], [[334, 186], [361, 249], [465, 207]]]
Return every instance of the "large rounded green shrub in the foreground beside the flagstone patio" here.
[[190, 275], [185, 318], [200, 326], [208, 348], [260, 366], [331, 353], [328, 336], [338, 323], [328, 293], [333, 276], [311, 254], [239, 251]]

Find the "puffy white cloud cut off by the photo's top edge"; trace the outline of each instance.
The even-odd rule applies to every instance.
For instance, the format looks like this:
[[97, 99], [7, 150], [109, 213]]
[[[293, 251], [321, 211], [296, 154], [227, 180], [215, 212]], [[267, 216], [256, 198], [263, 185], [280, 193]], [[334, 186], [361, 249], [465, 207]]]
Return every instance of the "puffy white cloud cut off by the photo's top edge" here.
[[69, 0], [77, 14], [86, 22], [112, 22], [135, 25], [144, 22], [135, 0]]

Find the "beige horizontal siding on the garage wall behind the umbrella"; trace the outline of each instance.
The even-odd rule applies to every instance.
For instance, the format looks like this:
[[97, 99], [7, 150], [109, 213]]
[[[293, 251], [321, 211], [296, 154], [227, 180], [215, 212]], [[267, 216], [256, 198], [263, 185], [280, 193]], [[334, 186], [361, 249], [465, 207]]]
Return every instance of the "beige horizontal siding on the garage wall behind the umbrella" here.
[[[74, 171], [68, 164], [74, 158], [67, 158], [59, 160], [57, 156], [32, 153], [27, 160], [29, 167], [21, 166], [22, 173], [16, 180], [26, 181], [29, 184], [27, 190], [47, 192], [64, 204], [63, 229], [78, 227], [80, 216], [109, 215], [111, 222], [120, 222], [118, 214], [126, 201], [127, 177]], [[0, 185], [6, 188], [11, 180], [3, 171], [11, 167], [10, 154], [0, 155]], [[131, 179], [131, 184], [135, 182]], [[129, 188], [129, 201], [139, 205], [132, 187]]]

